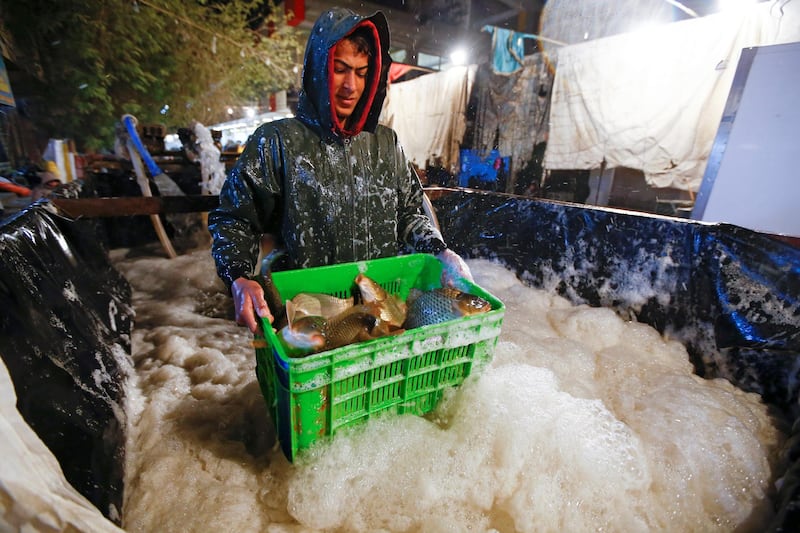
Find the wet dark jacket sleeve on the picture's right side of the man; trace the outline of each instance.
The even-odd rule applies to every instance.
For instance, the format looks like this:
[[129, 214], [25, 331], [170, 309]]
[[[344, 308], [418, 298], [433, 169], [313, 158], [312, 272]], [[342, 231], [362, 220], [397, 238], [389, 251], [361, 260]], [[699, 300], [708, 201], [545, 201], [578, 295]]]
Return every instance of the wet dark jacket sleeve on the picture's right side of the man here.
[[422, 207], [422, 184], [414, 167], [392, 131], [395, 144], [397, 175], [399, 176], [398, 234], [415, 252], [437, 254], [447, 248], [441, 232], [433, 225]]

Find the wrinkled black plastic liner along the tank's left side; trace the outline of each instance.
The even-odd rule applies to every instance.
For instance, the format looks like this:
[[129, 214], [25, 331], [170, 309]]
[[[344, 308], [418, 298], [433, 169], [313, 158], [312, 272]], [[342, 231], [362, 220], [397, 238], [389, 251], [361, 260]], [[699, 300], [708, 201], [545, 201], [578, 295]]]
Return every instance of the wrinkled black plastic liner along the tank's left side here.
[[66, 479], [119, 523], [131, 289], [97, 227], [49, 205], [0, 226], [0, 354], [20, 414]]

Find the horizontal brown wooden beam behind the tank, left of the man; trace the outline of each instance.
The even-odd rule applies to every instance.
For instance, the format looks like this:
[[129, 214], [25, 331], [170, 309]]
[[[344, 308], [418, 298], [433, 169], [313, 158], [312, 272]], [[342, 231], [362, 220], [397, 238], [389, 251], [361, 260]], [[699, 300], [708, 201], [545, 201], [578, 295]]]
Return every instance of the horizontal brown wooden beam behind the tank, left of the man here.
[[219, 196], [132, 196], [109, 198], [53, 198], [50, 200], [69, 217], [123, 217], [161, 213], [201, 213], [219, 205]]

